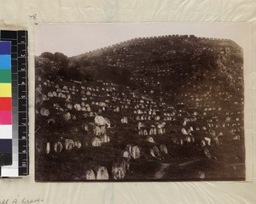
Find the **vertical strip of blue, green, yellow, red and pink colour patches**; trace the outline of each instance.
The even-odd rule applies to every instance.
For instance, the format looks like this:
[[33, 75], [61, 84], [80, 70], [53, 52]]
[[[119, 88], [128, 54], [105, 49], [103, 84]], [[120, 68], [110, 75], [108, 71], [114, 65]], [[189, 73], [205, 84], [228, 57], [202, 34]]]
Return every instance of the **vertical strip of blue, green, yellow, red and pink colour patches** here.
[[[0, 41], [0, 166], [12, 164], [11, 42]], [[1, 173], [2, 175], [2, 173]]]

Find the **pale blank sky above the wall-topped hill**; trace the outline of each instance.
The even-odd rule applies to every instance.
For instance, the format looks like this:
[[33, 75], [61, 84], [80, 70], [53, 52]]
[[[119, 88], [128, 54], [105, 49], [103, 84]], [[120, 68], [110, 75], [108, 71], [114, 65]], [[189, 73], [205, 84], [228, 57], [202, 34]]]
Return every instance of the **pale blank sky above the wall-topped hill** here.
[[71, 57], [134, 37], [172, 34], [229, 38], [243, 47], [249, 30], [239, 23], [38, 24], [35, 54], [61, 52]]

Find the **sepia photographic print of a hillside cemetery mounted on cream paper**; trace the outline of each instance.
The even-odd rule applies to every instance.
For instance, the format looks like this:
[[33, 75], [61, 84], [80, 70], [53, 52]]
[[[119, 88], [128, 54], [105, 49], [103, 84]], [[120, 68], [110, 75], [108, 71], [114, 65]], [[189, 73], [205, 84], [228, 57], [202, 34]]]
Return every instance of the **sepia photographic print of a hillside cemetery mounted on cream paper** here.
[[245, 180], [232, 35], [218, 24], [36, 26], [36, 180]]

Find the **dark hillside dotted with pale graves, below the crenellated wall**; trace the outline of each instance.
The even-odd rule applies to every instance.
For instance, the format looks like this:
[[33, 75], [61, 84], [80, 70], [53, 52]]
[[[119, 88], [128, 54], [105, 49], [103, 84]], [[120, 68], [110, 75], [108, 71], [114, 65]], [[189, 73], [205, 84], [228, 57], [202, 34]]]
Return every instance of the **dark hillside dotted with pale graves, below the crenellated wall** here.
[[[43, 108], [49, 114], [42, 114]], [[207, 179], [245, 176], [242, 50], [230, 40], [149, 37], [72, 58], [44, 53], [36, 57], [36, 110], [38, 180], [84, 180], [85, 171], [97, 166], [107, 167], [112, 178], [111, 167], [121, 160], [127, 144], [141, 150], [139, 159], [131, 159], [127, 180], [159, 179], [158, 172], [171, 180], [199, 179], [200, 171]], [[65, 121], [67, 113], [71, 119]], [[110, 142], [100, 147], [91, 144], [95, 133], [82, 128], [96, 116], [111, 122]], [[162, 122], [164, 133], [157, 127]], [[195, 142], [181, 131], [190, 127]], [[154, 143], [149, 143], [154, 128]], [[205, 137], [212, 144], [201, 147]], [[65, 139], [82, 146], [56, 153], [53, 144], [65, 144]], [[169, 154], [157, 159], [150, 150], [160, 144]], [[204, 154], [206, 148], [211, 159]]]

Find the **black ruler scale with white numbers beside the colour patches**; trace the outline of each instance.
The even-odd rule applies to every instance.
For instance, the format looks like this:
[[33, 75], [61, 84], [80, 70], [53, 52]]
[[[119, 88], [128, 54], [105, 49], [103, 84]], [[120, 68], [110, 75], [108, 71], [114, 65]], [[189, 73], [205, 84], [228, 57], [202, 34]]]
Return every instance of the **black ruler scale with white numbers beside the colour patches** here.
[[2, 177], [25, 176], [28, 168], [27, 31], [0, 31], [1, 41], [11, 42], [12, 165], [3, 166]]

